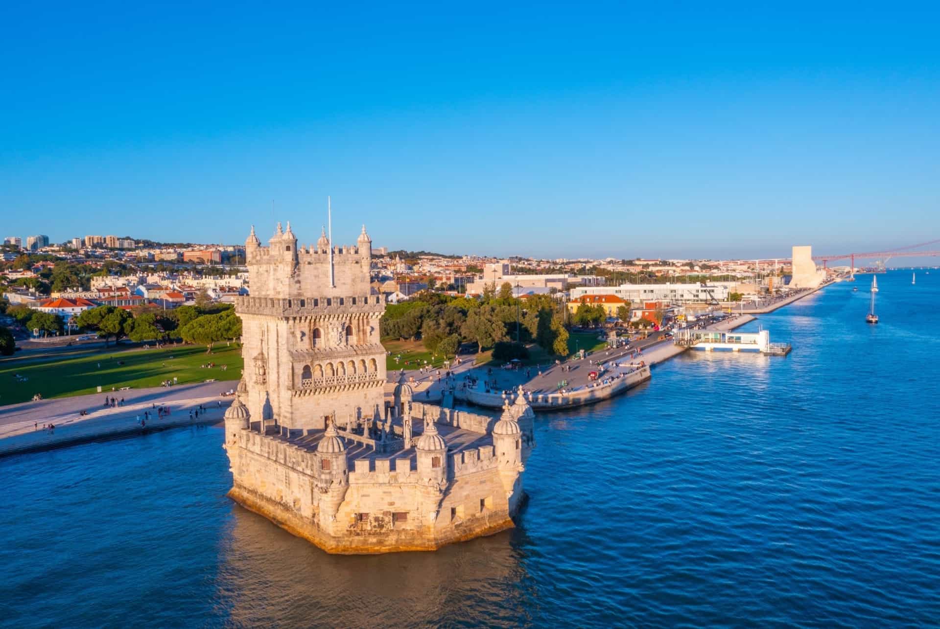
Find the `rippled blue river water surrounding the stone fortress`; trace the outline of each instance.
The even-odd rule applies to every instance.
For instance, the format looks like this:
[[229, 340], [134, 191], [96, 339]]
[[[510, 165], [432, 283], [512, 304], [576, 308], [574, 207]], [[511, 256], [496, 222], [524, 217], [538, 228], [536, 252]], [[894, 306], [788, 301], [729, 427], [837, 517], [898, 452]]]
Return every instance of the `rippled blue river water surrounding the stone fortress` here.
[[233, 505], [222, 433], [0, 461], [0, 623], [935, 625], [940, 272], [761, 316], [787, 357], [687, 353], [537, 419], [515, 530], [332, 557]]

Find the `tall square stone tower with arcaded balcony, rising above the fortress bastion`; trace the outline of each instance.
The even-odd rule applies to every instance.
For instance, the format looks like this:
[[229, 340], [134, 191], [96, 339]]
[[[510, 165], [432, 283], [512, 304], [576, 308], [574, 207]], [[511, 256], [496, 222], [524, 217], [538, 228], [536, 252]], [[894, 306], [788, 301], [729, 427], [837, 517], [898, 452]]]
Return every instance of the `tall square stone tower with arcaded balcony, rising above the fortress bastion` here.
[[251, 428], [290, 436], [323, 430], [328, 417], [343, 425], [382, 417], [385, 306], [369, 286], [366, 227], [356, 246], [331, 246], [323, 234], [307, 247], [290, 223], [278, 223], [267, 246], [252, 227], [245, 258], [251, 294], [237, 298], [235, 311]]

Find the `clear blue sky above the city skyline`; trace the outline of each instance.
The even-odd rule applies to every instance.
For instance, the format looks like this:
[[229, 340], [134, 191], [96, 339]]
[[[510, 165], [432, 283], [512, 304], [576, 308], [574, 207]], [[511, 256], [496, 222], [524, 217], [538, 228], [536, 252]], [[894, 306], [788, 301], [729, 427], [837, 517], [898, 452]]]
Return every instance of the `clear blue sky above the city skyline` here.
[[935, 3], [191, 4], [0, 8], [2, 235], [314, 242], [332, 195], [337, 244], [443, 252], [940, 238]]

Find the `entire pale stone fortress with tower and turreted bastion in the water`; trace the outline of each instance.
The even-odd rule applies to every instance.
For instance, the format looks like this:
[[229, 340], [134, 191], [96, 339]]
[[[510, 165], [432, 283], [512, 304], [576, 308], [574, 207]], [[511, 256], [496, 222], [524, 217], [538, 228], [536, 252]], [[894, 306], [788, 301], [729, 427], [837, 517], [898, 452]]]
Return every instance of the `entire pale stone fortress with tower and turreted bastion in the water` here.
[[371, 243], [298, 250], [278, 225], [245, 244], [245, 369], [226, 413], [229, 495], [333, 553], [433, 550], [512, 527], [534, 447], [520, 393], [498, 421], [386, 401]]

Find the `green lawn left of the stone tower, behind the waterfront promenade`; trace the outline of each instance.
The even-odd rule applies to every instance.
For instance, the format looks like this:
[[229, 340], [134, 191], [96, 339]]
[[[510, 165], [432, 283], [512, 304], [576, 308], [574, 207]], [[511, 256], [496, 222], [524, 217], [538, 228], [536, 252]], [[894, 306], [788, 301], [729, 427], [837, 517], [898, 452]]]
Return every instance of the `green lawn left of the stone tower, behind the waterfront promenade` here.
[[[119, 365], [118, 361], [123, 362]], [[213, 362], [212, 369], [199, 366]], [[100, 367], [99, 367], [100, 365]], [[227, 370], [221, 370], [227, 365]], [[121, 386], [146, 388], [177, 379], [178, 385], [242, 377], [242, 355], [235, 346], [219, 347], [211, 355], [205, 345], [186, 345], [162, 350], [115, 350], [53, 359], [11, 358], [0, 362], [0, 404], [43, 398], [65, 398]], [[24, 382], [16, 376], [26, 378]]]

